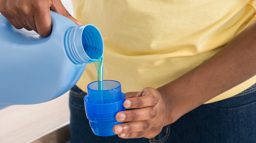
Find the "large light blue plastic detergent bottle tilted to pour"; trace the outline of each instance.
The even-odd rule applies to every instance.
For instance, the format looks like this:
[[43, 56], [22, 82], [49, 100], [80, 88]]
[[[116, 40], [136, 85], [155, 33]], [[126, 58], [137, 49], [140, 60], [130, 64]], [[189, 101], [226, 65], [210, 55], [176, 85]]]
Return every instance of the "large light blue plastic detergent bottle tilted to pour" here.
[[92, 24], [77, 26], [51, 11], [53, 30], [42, 38], [16, 29], [0, 15], [0, 110], [36, 104], [70, 90], [86, 63], [103, 56], [101, 33]]

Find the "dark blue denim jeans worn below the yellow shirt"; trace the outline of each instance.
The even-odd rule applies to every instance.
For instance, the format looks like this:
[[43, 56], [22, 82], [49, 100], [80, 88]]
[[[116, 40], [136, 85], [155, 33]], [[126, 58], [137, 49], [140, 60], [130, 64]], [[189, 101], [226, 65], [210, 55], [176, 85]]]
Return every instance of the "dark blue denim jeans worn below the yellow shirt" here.
[[94, 135], [85, 114], [85, 95], [76, 86], [70, 92], [72, 143], [256, 143], [256, 84], [231, 98], [199, 106], [151, 139]]

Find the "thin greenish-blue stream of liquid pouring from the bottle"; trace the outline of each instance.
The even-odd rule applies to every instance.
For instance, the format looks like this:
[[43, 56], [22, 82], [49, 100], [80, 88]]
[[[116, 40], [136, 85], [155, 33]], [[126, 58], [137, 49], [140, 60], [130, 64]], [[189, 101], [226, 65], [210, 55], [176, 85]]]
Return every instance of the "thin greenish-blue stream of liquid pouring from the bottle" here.
[[103, 72], [102, 72], [103, 57], [98, 61], [95, 61], [94, 64], [96, 66], [97, 75], [98, 75], [98, 90], [103, 90]]

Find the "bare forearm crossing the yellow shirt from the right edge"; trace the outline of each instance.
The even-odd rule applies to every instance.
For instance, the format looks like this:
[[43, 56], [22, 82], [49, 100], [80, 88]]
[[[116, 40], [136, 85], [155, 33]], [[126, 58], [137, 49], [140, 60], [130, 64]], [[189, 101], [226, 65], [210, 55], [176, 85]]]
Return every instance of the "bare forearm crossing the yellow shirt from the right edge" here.
[[256, 74], [256, 23], [216, 55], [158, 88], [166, 106], [165, 125]]

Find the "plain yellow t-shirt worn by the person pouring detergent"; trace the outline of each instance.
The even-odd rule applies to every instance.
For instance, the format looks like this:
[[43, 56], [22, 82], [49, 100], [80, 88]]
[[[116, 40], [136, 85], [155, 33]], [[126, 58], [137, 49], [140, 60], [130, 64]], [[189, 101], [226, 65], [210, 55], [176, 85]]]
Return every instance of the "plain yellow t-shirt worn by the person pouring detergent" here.
[[[75, 18], [96, 25], [104, 40], [103, 80], [123, 92], [160, 87], [216, 54], [256, 20], [252, 0], [73, 0]], [[77, 86], [96, 81], [93, 63]], [[215, 102], [253, 85], [256, 76]]]

